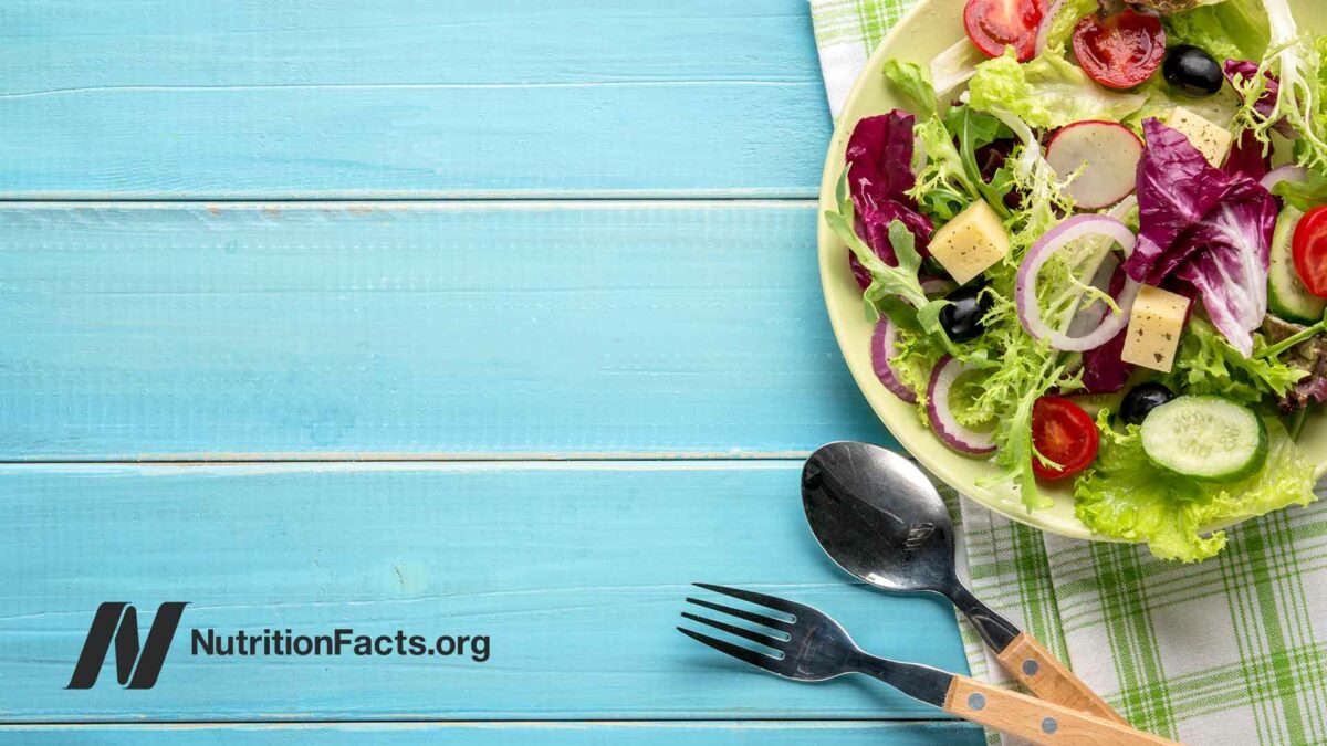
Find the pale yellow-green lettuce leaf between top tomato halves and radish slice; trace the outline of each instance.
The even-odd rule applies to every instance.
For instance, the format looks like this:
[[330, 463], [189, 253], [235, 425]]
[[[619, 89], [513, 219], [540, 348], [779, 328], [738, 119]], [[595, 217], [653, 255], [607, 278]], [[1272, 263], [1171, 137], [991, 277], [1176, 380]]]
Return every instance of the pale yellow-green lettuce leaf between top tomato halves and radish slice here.
[[1062, 48], [1019, 64], [1013, 53], [977, 66], [969, 104], [979, 112], [1007, 112], [1038, 129], [1063, 127], [1084, 119], [1119, 122], [1147, 104], [1147, 96], [1115, 93], [1092, 82], [1064, 58]]

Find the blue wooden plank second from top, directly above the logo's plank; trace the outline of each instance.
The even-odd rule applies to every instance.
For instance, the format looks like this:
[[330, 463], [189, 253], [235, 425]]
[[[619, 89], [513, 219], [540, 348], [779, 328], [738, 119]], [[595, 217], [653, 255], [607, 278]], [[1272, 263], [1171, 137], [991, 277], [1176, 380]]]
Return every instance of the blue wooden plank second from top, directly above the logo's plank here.
[[0, 208], [0, 458], [888, 442], [802, 203]]

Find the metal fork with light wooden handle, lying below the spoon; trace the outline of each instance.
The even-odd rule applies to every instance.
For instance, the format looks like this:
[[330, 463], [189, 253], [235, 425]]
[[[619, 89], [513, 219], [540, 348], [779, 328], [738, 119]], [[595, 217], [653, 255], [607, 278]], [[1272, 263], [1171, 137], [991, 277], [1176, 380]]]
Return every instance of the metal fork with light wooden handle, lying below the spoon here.
[[736, 645], [685, 627], [678, 627], [678, 632], [783, 678], [828, 681], [849, 673], [861, 673], [878, 678], [914, 700], [1031, 743], [1174, 745], [1173, 741], [1157, 738], [1127, 725], [1085, 715], [966, 676], [868, 654], [852, 641], [839, 623], [805, 604], [709, 583], [695, 585], [776, 612], [758, 613], [687, 597], [689, 604], [759, 625], [760, 629], [682, 612], [683, 617], [694, 623], [755, 642], [766, 650]]

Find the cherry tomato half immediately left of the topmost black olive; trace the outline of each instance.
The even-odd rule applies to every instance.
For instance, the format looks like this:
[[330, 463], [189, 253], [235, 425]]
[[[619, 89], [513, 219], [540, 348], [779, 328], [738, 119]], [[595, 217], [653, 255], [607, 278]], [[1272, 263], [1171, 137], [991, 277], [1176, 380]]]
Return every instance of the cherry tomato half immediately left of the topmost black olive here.
[[1165, 29], [1161, 19], [1133, 9], [1091, 13], [1074, 28], [1074, 56], [1105, 88], [1133, 88], [1165, 61]]

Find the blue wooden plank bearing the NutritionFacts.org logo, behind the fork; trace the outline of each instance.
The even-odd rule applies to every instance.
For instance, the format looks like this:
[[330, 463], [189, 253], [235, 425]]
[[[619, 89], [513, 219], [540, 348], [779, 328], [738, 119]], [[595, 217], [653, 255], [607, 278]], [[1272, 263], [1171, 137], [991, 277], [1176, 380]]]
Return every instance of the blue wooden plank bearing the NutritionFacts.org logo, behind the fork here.
[[[953, 609], [848, 583], [800, 462], [0, 467], [0, 719], [942, 715], [869, 681], [796, 685], [674, 631], [698, 580], [965, 670]], [[155, 688], [66, 690], [93, 612], [188, 601]], [[490, 660], [192, 656], [192, 628], [488, 634]]]

